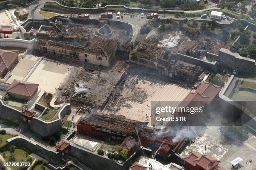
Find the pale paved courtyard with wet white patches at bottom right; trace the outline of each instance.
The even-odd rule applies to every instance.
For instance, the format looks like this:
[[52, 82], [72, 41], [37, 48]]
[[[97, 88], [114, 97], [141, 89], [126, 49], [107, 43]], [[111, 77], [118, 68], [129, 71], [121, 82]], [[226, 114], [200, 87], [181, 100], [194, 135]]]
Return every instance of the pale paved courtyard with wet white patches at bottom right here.
[[[191, 150], [196, 150], [201, 154], [210, 154], [212, 157], [221, 161], [220, 165], [227, 170], [232, 167], [230, 161], [240, 157], [239, 170], [253, 170], [256, 168], [256, 137], [249, 134], [249, 138], [243, 143], [223, 138], [220, 126], [208, 126], [205, 133], [198, 137], [194, 144], [187, 147], [182, 156], [188, 155]], [[205, 150], [206, 145], [206, 150]], [[247, 164], [248, 160], [252, 162]]]

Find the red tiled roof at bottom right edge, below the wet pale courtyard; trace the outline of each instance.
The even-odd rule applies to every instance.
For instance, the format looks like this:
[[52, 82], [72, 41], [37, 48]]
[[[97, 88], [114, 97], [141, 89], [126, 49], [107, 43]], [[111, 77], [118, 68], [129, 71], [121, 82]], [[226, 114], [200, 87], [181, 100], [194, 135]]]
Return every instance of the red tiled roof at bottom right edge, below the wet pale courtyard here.
[[197, 164], [204, 170], [207, 170], [207, 169], [210, 170], [212, 168], [215, 168], [215, 169], [219, 168], [217, 170], [225, 170], [225, 168], [222, 168], [219, 166], [220, 164], [219, 160], [216, 160], [215, 158], [213, 158], [211, 155], [208, 155], [208, 154], [202, 155], [197, 151], [193, 151], [192, 153], [184, 157], [183, 160], [193, 166]]

